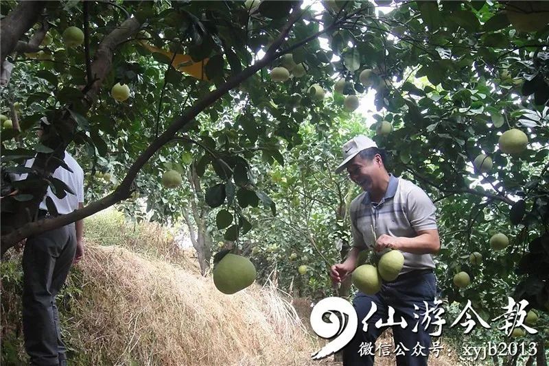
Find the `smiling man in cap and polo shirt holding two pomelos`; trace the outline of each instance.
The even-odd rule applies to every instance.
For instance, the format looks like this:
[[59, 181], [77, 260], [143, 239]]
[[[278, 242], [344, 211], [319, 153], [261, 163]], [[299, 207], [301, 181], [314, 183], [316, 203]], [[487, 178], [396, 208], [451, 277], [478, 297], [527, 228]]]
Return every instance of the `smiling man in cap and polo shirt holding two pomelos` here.
[[[384, 282], [375, 295], [359, 292], [355, 296], [358, 330], [343, 350], [343, 365], [373, 365], [375, 341], [390, 319], [399, 324], [404, 319], [407, 324], [404, 328], [393, 326], [397, 365], [427, 365], [431, 330], [421, 322], [426, 310], [434, 308], [432, 254], [441, 247], [434, 205], [421, 188], [388, 173], [386, 154], [371, 138], [352, 138], [343, 145], [343, 158], [336, 172], [347, 169], [349, 178], [364, 192], [353, 199], [350, 207], [353, 248], [343, 263], [331, 266], [331, 279], [341, 282], [349, 276], [362, 250], [371, 249], [378, 256], [389, 249], [404, 254], [404, 267], [396, 280]], [[376, 310], [371, 315], [373, 304]], [[395, 310], [393, 317], [389, 306]], [[364, 332], [362, 320], [366, 318], [368, 327]], [[379, 319], [386, 325], [377, 328]]]

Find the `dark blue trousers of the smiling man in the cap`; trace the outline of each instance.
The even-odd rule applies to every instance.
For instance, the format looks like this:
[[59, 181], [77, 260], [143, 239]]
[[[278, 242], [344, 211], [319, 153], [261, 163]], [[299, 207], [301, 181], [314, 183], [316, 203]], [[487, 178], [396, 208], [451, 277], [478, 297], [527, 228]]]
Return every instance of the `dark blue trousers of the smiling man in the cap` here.
[[[392, 327], [395, 348], [389, 349], [390, 354], [397, 354], [397, 366], [427, 366], [431, 344], [429, 333], [433, 332], [433, 328], [425, 330], [425, 324], [427, 323], [421, 324], [421, 321], [423, 321], [423, 314], [425, 313], [424, 302], [427, 302], [429, 308], [432, 309], [434, 307], [435, 294], [436, 278], [434, 273], [420, 273], [417, 276], [399, 276], [393, 282], [384, 283], [382, 289], [375, 295], [366, 295], [359, 292], [353, 301], [353, 306], [358, 316], [358, 330], [355, 337], [343, 349], [343, 365], [373, 365], [373, 354], [376, 354], [375, 341], [388, 328], [385, 326], [378, 329], [375, 323], [379, 319], [382, 319], [383, 324], [386, 324], [389, 318], [388, 306], [392, 306], [395, 309], [393, 320], [400, 323], [401, 319], [404, 318], [408, 326], [404, 329], [398, 325]], [[362, 320], [369, 314], [372, 303], [375, 303], [377, 310], [367, 321], [368, 330], [364, 332]], [[417, 308], [414, 308], [414, 305]], [[414, 314], [419, 317], [414, 317]], [[432, 320], [433, 317], [430, 317], [430, 319]], [[417, 332], [414, 332], [414, 327], [418, 321]], [[424, 348], [417, 347], [418, 342]], [[398, 352], [396, 352], [396, 346], [399, 343], [408, 349], [406, 351], [404, 347], [399, 347], [399, 350], [402, 350], [405, 355], [399, 356]], [[370, 352], [366, 352], [368, 345], [373, 345]], [[419, 352], [414, 355], [414, 350], [421, 350], [425, 356], [421, 356]]]

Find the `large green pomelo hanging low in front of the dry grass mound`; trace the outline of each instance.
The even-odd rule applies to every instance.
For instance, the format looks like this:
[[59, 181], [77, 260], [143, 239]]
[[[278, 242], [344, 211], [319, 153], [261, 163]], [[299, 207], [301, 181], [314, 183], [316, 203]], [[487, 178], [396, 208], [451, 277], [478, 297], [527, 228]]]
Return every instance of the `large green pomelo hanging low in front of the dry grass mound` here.
[[253, 284], [255, 276], [255, 267], [248, 258], [229, 253], [215, 265], [213, 284], [222, 293], [231, 295]]

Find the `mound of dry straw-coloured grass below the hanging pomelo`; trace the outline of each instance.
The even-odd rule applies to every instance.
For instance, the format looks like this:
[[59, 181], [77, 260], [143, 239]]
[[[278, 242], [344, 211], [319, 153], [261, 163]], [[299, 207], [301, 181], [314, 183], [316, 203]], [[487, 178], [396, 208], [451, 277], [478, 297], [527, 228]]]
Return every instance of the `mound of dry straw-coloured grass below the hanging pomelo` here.
[[208, 278], [120, 247], [89, 246], [81, 266], [69, 331], [95, 364], [305, 365], [317, 347], [272, 284], [228, 296]]

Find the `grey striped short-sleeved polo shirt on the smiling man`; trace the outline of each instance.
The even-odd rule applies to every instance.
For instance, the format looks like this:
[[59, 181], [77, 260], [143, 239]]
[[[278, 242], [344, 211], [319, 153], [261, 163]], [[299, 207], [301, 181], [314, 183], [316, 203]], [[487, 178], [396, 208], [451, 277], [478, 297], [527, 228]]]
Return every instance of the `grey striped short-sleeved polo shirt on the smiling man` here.
[[[390, 236], [417, 236], [421, 230], [436, 229], [435, 208], [431, 199], [419, 186], [409, 180], [389, 177], [385, 197], [375, 204], [368, 192], [363, 192], [351, 202], [351, 227], [353, 246], [360, 249], [373, 249], [375, 237], [382, 234]], [[384, 252], [377, 253], [382, 256]], [[404, 267], [401, 273], [413, 269], [434, 269], [431, 254], [404, 254]]]

